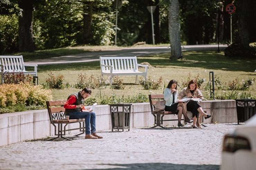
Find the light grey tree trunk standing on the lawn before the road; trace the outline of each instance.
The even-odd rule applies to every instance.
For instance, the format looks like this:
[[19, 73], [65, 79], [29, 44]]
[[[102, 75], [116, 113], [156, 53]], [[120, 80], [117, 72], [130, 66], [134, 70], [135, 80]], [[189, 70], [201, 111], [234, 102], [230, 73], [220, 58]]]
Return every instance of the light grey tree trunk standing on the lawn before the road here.
[[180, 37], [179, 0], [169, 0], [169, 32], [171, 43], [170, 59], [183, 58]]

